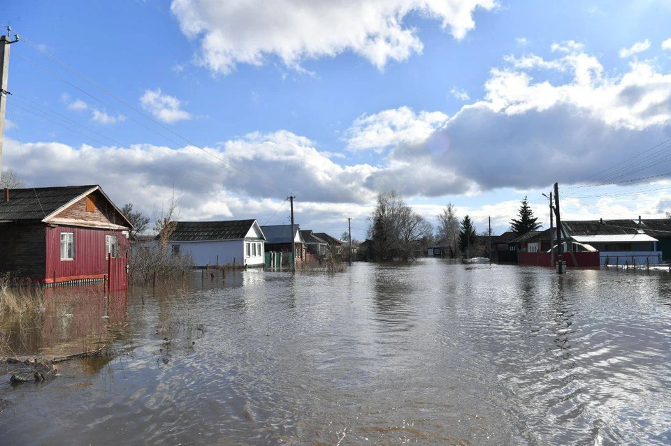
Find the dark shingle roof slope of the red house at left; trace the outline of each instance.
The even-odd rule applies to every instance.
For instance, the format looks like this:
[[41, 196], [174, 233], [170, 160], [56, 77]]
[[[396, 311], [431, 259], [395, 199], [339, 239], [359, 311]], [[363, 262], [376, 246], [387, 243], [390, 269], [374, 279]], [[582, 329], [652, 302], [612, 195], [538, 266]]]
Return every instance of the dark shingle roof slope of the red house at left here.
[[10, 189], [9, 201], [5, 191], [0, 196], [0, 221], [42, 221], [43, 218], [67, 205], [83, 193], [98, 186], [62, 186]]

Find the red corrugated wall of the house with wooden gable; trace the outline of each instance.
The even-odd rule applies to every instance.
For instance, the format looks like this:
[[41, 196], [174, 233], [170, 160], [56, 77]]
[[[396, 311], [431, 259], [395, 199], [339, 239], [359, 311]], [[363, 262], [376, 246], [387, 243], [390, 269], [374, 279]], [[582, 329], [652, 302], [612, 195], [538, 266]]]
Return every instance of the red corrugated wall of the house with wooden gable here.
[[[74, 260], [61, 260], [61, 233], [72, 232], [74, 234]], [[121, 231], [75, 228], [71, 226], [57, 226], [47, 228], [47, 261], [45, 278], [47, 281], [56, 277], [68, 278], [90, 278], [104, 276], [107, 274], [108, 263], [106, 258], [106, 235], [116, 235], [119, 244], [119, 255], [125, 256], [128, 251], [128, 239]]]

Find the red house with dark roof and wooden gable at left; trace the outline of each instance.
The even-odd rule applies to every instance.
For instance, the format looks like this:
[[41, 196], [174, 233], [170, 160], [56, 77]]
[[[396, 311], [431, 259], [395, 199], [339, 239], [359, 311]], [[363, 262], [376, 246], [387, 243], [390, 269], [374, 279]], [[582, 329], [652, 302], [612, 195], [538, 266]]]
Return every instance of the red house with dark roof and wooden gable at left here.
[[38, 283], [127, 287], [133, 225], [100, 186], [2, 189], [0, 273]]

